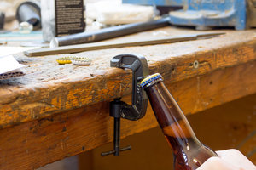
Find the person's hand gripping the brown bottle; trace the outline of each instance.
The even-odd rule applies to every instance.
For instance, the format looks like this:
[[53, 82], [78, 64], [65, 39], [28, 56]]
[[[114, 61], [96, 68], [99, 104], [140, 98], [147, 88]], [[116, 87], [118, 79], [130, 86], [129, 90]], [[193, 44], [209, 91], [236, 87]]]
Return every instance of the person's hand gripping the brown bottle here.
[[220, 150], [218, 156], [205, 161], [197, 170], [256, 170], [256, 166], [239, 150]]

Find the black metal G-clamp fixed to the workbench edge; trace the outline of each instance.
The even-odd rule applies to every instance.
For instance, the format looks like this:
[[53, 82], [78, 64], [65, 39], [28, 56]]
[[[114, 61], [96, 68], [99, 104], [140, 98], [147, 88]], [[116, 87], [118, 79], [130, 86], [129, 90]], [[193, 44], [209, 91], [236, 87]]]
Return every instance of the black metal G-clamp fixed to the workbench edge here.
[[142, 55], [121, 54], [113, 57], [110, 61], [111, 67], [132, 70], [132, 101], [131, 105], [119, 99], [110, 102], [110, 116], [114, 118], [113, 150], [103, 152], [102, 156], [113, 154], [119, 156], [120, 151], [131, 150], [131, 146], [119, 148], [120, 144], [120, 118], [137, 121], [145, 116], [148, 106], [148, 96], [141, 88], [140, 81], [148, 76], [148, 63]]

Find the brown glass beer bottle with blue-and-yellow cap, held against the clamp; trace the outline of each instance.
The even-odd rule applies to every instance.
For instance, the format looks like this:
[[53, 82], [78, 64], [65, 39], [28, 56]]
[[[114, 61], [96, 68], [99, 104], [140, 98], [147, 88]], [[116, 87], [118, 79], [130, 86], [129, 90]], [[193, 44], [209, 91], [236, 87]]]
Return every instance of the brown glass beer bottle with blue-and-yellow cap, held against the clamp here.
[[217, 154], [196, 139], [183, 111], [167, 90], [159, 73], [141, 82], [148, 94], [154, 115], [172, 146], [175, 170], [194, 170]]

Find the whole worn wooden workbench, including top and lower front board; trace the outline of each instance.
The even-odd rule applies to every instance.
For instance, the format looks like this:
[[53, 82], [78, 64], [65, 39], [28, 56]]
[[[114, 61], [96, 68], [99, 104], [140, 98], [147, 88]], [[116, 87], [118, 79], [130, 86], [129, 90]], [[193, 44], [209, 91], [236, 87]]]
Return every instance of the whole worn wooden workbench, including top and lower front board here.
[[[211, 31], [212, 32], [212, 31]], [[132, 48], [72, 54], [93, 65], [58, 65], [62, 54], [28, 58], [24, 77], [0, 82], [0, 169], [33, 169], [113, 140], [109, 101], [129, 102], [131, 71], [110, 68], [117, 54], [143, 54], [150, 73], [160, 72], [184, 113], [223, 105], [256, 93], [256, 31], [224, 30], [224, 36]], [[166, 27], [111, 40], [201, 33]], [[193, 64], [198, 61], [198, 67]], [[148, 106], [143, 119], [122, 120], [122, 138], [156, 127]]]

